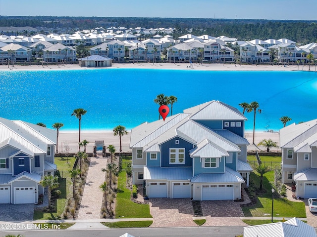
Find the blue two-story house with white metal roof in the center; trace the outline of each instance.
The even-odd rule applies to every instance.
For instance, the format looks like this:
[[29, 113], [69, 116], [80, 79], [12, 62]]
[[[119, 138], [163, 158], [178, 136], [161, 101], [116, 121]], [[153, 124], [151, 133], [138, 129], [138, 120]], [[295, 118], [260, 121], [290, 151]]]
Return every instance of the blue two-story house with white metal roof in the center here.
[[210, 101], [131, 131], [133, 183], [148, 197], [240, 199], [249, 185], [244, 122], [236, 108]]

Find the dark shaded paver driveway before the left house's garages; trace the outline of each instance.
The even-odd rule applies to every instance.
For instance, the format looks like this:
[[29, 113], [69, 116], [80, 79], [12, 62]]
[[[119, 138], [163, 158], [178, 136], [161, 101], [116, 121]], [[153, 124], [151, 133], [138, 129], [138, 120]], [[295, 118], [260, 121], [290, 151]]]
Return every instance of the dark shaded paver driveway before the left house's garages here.
[[32, 221], [34, 204], [0, 204], [0, 221]]

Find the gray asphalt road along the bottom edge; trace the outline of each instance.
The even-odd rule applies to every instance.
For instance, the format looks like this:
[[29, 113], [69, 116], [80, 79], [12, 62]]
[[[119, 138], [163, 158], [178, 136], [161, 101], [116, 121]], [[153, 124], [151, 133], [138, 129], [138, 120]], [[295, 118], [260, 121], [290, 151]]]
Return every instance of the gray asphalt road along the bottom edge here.
[[235, 237], [243, 227], [184, 227], [184, 228], [131, 228], [106, 230], [37, 230], [0, 232], [0, 236], [22, 234], [24, 237], [120, 237], [129, 233], [135, 237]]

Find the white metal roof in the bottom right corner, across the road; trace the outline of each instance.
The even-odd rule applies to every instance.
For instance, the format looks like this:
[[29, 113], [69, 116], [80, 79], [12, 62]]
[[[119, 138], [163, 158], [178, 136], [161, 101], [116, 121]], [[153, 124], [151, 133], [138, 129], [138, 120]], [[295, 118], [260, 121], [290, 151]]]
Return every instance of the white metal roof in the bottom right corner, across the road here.
[[296, 217], [278, 223], [243, 227], [243, 237], [317, 237], [310, 225]]

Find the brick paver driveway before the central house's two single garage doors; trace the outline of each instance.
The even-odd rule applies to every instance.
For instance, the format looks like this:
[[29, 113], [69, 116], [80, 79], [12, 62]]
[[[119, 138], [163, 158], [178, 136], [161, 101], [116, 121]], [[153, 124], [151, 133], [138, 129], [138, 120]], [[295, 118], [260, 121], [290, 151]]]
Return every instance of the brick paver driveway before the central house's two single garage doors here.
[[151, 227], [190, 227], [193, 222], [193, 205], [190, 198], [151, 198]]

